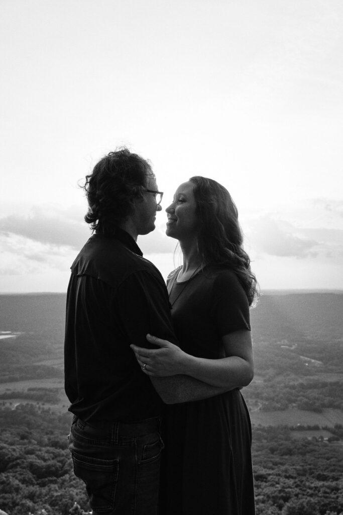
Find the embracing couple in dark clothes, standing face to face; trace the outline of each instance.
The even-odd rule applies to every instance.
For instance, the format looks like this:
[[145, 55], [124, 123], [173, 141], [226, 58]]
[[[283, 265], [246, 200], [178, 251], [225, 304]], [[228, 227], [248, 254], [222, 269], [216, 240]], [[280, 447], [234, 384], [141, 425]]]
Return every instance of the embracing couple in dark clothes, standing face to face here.
[[257, 284], [236, 205], [212, 179], [181, 184], [166, 209], [183, 266], [168, 277], [137, 236], [163, 193], [123, 148], [86, 176], [94, 234], [71, 266], [65, 390], [74, 472], [93, 515], [254, 515], [254, 374], [249, 306]]

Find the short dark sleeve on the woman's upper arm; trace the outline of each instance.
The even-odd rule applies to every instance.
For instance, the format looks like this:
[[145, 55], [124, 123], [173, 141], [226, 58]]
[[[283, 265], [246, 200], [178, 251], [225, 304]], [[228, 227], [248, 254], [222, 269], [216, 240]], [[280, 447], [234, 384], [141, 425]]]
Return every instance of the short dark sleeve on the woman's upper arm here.
[[236, 274], [223, 270], [213, 281], [211, 317], [220, 336], [250, 331], [249, 303]]

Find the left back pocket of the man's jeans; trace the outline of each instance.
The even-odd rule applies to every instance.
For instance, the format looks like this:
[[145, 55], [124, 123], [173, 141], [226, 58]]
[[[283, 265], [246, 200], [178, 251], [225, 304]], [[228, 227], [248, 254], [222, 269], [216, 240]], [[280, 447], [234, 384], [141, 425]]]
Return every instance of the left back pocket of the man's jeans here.
[[71, 451], [74, 474], [86, 485], [89, 504], [94, 511], [114, 510], [119, 473], [118, 459], [99, 459]]

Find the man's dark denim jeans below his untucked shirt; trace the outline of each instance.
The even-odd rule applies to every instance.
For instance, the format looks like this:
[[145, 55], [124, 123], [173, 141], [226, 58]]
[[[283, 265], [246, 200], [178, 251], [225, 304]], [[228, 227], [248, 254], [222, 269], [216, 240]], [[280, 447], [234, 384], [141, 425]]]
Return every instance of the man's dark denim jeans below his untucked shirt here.
[[83, 422], [68, 435], [74, 473], [86, 485], [93, 515], [157, 515], [159, 419], [133, 423]]

